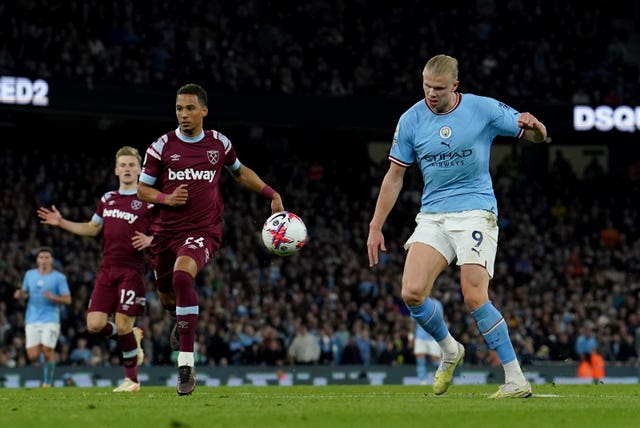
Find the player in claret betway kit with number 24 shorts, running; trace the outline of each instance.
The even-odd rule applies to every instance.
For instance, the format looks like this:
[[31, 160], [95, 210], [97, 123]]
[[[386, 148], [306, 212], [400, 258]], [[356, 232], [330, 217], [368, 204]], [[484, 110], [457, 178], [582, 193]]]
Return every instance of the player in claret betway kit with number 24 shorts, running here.
[[260, 193], [271, 213], [284, 211], [280, 195], [236, 156], [222, 133], [204, 129], [207, 92], [186, 84], [175, 99], [178, 128], [147, 149], [138, 196], [156, 211], [151, 231], [152, 264], [164, 308], [176, 318], [179, 395], [196, 387], [194, 345], [198, 322], [195, 277], [222, 243], [220, 174], [223, 170], [243, 187]]

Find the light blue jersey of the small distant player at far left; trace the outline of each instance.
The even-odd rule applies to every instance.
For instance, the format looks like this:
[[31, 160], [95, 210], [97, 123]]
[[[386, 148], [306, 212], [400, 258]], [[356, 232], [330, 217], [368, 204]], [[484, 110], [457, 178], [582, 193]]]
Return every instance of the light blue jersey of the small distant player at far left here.
[[22, 289], [29, 293], [25, 324], [60, 322], [60, 305], [44, 296], [45, 291], [50, 291], [56, 296], [71, 294], [67, 277], [53, 270], [41, 274], [38, 269], [29, 269], [22, 281]]

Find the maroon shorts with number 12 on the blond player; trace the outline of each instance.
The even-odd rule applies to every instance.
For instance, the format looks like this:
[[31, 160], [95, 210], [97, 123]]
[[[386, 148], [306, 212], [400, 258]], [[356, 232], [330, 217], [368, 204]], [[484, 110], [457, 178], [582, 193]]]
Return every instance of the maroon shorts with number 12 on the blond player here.
[[89, 312], [138, 316], [146, 305], [144, 269], [102, 266], [89, 300]]

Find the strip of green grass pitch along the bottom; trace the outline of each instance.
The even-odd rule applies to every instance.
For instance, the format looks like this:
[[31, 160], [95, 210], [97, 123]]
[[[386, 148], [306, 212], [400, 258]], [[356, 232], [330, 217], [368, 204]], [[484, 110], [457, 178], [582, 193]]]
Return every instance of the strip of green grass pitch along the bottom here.
[[534, 385], [529, 399], [490, 400], [497, 385], [198, 386], [0, 389], [0, 427], [634, 427], [640, 385]]

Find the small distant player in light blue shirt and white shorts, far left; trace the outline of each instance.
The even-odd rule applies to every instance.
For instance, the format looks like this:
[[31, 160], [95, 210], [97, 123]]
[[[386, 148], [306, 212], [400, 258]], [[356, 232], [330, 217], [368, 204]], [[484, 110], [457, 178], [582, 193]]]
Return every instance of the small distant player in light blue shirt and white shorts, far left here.
[[60, 305], [71, 303], [71, 292], [67, 277], [53, 268], [53, 250], [41, 247], [36, 251], [35, 269], [29, 269], [17, 289], [14, 298], [27, 301], [25, 315], [25, 345], [27, 357], [37, 362], [44, 356], [44, 379], [42, 387], [53, 385], [56, 366], [54, 350], [60, 336]]

